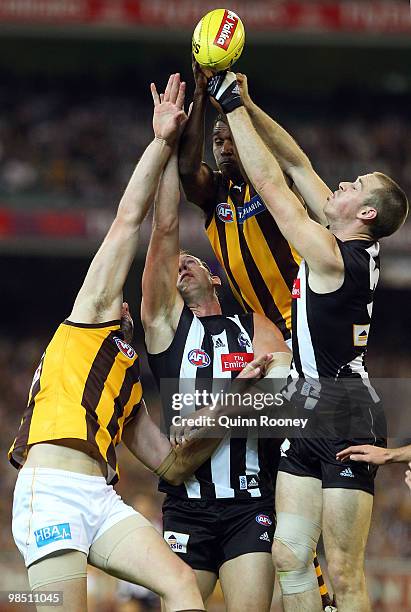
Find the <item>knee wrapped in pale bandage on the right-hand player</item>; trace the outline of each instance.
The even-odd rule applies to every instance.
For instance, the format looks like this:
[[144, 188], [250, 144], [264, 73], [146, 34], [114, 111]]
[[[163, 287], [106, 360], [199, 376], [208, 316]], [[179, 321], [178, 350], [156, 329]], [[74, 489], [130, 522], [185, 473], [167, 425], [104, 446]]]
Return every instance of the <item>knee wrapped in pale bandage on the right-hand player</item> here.
[[287, 512], [278, 514], [273, 560], [283, 594], [317, 587], [313, 557], [320, 533], [320, 525], [310, 519]]

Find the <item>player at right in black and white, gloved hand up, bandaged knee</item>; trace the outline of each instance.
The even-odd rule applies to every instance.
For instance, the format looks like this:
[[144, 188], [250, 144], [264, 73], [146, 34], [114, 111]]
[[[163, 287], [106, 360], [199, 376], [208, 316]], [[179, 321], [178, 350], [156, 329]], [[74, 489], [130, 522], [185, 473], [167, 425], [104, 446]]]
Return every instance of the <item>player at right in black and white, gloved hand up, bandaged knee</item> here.
[[[236, 76], [217, 75], [210, 79], [209, 91], [227, 116], [247, 176], [284, 237], [303, 257], [293, 286], [294, 382], [287, 389], [289, 396], [293, 403], [316, 411], [324, 405], [324, 380], [342, 381], [344, 386], [356, 379], [364, 390], [360, 403], [345, 396], [342, 405], [334, 405], [327, 397], [325, 405], [331, 413], [335, 409], [343, 429], [344, 410], [348, 419], [358, 412], [364, 421], [363, 443], [383, 446], [385, 440], [377, 439], [373, 422], [378, 404], [367, 380], [364, 355], [379, 276], [378, 240], [404, 223], [407, 198], [380, 172], [342, 182], [325, 204], [326, 229], [309, 218], [288, 188], [278, 162], [253, 128]], [[345, 439], [334, 433], [292, 440], [281, 459], [273, 555], [286, 611], [321, 610], [311, 565], [321, 529], [339, 611], [370, 610], [364, 550], [375, 470], [354, 461], [341, 469], [336, 452], [358, 442], [355, 431], [348, 427], [346, 433]]]

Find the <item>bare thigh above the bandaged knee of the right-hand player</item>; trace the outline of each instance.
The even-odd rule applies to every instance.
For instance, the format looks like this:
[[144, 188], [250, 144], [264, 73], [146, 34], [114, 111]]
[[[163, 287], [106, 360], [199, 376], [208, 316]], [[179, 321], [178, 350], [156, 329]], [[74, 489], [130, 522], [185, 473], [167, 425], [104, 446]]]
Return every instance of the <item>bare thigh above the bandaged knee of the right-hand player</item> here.
[[278, 472], [275, 509], [277, 517], [281, 512], [289, 512], [321, 522], [321, 480], [309, 476], [296, 476], [288, 472]]

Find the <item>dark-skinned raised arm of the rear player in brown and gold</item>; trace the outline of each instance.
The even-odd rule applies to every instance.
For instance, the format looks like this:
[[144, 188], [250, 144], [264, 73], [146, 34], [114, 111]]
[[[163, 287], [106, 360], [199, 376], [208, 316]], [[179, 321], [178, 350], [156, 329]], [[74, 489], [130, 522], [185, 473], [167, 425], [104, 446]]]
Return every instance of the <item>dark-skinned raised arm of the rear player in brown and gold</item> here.
[[207, 77], [192, 58], [195, 80], [190, 116], [180, 139], [179, 172], [187, 199], [206, 210], [214, 202], [215, 179], [212, 169], [203, 162], [204, 121], [207, 105]]

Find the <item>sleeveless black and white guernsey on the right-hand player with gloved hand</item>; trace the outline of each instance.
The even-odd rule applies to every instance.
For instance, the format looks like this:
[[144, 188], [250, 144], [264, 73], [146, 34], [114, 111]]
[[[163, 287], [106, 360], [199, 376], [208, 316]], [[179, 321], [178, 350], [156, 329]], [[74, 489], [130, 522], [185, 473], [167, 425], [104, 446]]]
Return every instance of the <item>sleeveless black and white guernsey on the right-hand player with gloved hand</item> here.
[[[374, 439], [386, 436], [385, 417], [365, 364], [379, 245], [337, 239], [344, 261], [339, 289], [319, 294], [301, 262], [294, 282], [293, 363], [284, 396], [312, 412], [318, 437]], [[307, 430], [308, 431], [308, 430]]]

